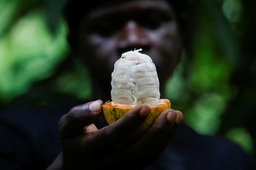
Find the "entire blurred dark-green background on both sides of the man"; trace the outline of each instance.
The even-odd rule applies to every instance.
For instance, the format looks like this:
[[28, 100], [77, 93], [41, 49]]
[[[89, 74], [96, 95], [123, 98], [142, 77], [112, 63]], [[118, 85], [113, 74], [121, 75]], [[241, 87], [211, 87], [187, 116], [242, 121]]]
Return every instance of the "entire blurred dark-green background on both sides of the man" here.
[[[90, 98], [86, 68], [69, 59], [65, 1], [0, 1], [0, 110]], [[256, 160], [255, 1], [197, 2], [192, 55], [166, 86], [202, 134], [237, 142]]]

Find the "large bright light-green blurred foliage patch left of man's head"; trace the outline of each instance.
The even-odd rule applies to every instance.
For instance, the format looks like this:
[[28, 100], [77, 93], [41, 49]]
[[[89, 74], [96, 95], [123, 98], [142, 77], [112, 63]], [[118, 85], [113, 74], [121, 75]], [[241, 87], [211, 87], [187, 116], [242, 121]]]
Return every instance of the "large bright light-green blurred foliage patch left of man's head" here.
[[[0, 24], [1, 25], [1, 24]], [[66, 25], [49, 31], [42, 10], [17, 20], [0, 39], [0, 100], [9, 101], [35, 81], [48, 78], [67, 51]]]

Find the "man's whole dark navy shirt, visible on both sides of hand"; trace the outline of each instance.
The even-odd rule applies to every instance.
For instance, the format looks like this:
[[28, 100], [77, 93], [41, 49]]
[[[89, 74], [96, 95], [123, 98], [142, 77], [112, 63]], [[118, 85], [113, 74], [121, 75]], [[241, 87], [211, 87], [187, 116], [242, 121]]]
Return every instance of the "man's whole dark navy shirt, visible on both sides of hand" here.
[[[0, 113], [0, 169], [46, 169], [61, 152], [58, 121], [80, 103], [12, 108]], [[98, 124], [100, 125], [100, 124]], [[255, 169], [236, 144], [197, 134], [186, 124], [147, 169]]]

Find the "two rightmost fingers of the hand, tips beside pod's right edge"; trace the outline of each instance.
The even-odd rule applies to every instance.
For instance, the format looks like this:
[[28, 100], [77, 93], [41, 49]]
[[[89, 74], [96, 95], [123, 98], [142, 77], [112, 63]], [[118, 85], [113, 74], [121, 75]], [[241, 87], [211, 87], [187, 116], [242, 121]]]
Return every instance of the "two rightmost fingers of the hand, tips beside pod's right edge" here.
[[[173, 138], [182, 119], [181, 111], [173, 109], [163, 111], [153, 126], [140, 139], [112, 152], [108, 158], [104, 158], [104, 161], [114, 159], [122, 162], [129, 160], [131, 164], [142, 164], [142, 166], [155, 161]], [[133, 157], [136, 159], [131, 160], [130, 158]]]

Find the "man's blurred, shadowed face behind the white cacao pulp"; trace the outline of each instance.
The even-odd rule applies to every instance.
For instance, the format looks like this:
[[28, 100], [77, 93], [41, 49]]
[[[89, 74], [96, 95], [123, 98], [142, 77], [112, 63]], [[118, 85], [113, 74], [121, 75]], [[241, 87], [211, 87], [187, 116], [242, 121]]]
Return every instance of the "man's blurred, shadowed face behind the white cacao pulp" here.
[[181, 53], [176, 16], [165, 1], [128, 1], [93, 10], [83, 18], [77, 41], [76, 50], [92, 79], [106, 87], [123, 52], [141, 48], [149, 55], [162, 88]]

